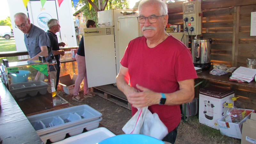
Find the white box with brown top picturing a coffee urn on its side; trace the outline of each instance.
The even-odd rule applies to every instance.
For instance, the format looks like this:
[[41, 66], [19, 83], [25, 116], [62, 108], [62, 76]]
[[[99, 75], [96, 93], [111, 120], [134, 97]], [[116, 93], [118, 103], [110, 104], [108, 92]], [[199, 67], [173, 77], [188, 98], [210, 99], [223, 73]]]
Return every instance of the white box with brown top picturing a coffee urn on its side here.
[[219, 130], [218, 119], [227, 109], [224, 105], [233, 103], [235, 91], [220, 86], [208, 86], [199, 90], [199, 122]]

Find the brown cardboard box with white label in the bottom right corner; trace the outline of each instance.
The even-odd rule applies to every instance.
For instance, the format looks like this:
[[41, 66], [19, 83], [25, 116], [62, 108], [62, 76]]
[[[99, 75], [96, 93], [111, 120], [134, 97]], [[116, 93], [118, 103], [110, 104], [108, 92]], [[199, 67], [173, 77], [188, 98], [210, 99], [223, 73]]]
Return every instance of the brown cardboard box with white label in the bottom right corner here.
[[251, 119], [243, 123], [241, 144], [256, 143], [256, 114], [251, 114]]

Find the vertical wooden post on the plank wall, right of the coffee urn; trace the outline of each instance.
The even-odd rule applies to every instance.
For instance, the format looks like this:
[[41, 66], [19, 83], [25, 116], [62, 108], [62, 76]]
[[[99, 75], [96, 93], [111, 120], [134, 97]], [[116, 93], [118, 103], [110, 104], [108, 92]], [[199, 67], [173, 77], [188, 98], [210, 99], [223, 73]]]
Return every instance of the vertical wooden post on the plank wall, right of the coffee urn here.
[[235, 6], [234, 19], [233, 19], [233, 42], [232, 42], [232, 54], [231, 54], [231, 66], [236, 68], [237, 68], [237, 54], [238, 54], [239, 14], [240, 14], [240, 6]]

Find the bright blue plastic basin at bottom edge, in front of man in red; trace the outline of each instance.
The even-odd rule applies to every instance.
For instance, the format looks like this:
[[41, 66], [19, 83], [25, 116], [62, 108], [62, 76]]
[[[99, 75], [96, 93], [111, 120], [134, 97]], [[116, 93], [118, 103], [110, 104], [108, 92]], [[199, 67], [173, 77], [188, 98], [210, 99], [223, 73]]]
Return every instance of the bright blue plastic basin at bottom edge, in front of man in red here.
[[164, 144], [164, 142], [142, 134], [122, 134], [102, 140], [98, 144]]

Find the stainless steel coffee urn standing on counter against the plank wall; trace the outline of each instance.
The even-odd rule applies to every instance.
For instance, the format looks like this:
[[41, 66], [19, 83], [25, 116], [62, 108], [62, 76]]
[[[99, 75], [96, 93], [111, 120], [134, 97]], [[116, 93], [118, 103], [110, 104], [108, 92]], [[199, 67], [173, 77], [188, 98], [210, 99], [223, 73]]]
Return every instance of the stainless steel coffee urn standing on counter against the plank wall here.
[[208, 70], [211, 68], [211, 38], [203, 39], [192, 39], [191, 54], [195, 67], [202, 68], [202, 70]]

